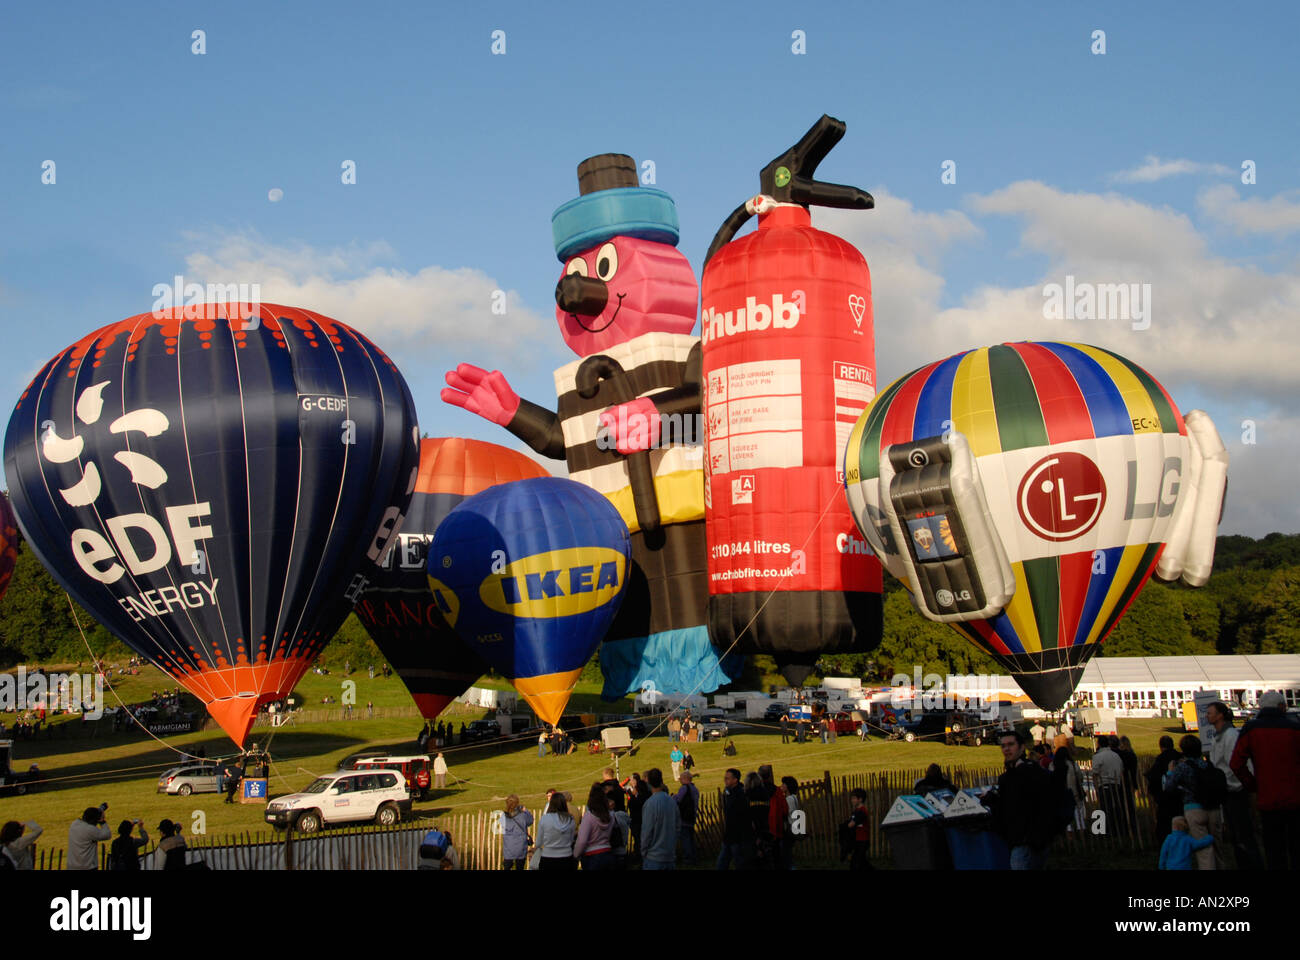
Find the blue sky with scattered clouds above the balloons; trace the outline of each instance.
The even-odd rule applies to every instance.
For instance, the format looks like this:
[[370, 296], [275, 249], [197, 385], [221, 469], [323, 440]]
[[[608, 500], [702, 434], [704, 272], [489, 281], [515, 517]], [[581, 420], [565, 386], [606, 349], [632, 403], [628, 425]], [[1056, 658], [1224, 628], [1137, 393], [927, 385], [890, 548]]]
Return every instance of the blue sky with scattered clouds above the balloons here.
[[[1234, 457], [1225, 532], [1300, 529], [1274, 466], [1300, 454], [1292, 5], [573, 10], [8, 8], [0, 394], [181, 273], [261, 282], [268, 300], [359, 327], [398, 359], [424, 431], [512, 442], [438, 388], [469, 360], [554, 398], [571, 355], [550, 215], [577, 163], [653, 160], [698, 271], [758, 170], [826, 112], [848, 135], [819, 176], [878, 198], [818, 222], [871, 263], [881, 382], [998, 340], [1108, 346], [1214, 416]], [[1152, 328], [1043, 320], [1041, 287], [1065, 274], [1150, 282]], [[506, 319], [489, 310], [497, 287]]]

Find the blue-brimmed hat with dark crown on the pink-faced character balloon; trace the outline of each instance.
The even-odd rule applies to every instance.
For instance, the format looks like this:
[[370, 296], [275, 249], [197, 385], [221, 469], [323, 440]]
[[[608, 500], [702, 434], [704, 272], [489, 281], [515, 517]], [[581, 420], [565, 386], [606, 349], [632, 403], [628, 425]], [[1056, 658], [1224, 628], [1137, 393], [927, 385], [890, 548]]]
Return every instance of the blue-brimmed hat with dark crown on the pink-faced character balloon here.
[[641, 186], [627, 153], [601, 153], [577, 165], [578, 196], [551, 215], [555, 256], [564, 263], [614, 237], [677, 246], [677, 206], [663, 190]]

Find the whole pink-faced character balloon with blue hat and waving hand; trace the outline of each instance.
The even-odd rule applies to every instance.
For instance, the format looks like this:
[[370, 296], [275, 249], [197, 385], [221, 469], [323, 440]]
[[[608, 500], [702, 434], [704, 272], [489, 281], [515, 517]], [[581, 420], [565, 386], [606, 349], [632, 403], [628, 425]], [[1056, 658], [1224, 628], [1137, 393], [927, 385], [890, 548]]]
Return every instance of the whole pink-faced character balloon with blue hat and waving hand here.
[[677, 209], [632, 157], [578, 164], [580, 195], [551, 217], [555, 320], [578, 360], [555, 371], [556, 410], [500, 371], [462, 363], [442, 399], [500, 424], [610, 498], [632, 532], [623, 606], [601, 648], [603, 696], [710, 692], [740, 674], [708, 640], [698, 285]]

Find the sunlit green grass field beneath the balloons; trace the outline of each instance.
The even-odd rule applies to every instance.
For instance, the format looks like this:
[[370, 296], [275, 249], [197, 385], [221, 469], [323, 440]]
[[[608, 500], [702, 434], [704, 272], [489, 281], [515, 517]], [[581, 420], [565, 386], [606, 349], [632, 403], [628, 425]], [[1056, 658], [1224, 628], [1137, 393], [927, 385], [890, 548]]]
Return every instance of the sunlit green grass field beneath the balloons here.
[[[322, 696], [337, 697], [342, 679], [334, 674], [308, 674], [295, 691], [299, 705], [311, 709], [320, 705]], [[415, 749], [420, 719], [365, 719], [364, 704], [368, 700], [376, 708], [410, 706], [411, 699], [402, 683], [395, 676], [369, 680], [364, 671], [354, 673], [350, 679], [356, 682], [356, 701], [361, 708], [354, 719], [304, 723], [274, 732], [261, 727], [255, 731], [254, 739], [257, 740], [273, 734], [273, 796], [300, 790], [316, 775], [337, 769], [347, 754], [361, 749]], [[150, 669], [139, 676], [126, 678], [117, 686], [117, 693], [126, 702], [136, 702], [147, 700], [151, 691], [162, 686], [162, 675]], [[116, 702], [113, 693], [105, 692], [105, 705]], [[624, 700], [620, 705], [607, 704], [599, 700], [594, 686], [585, 684], [575, 692], [571, 712], [630, 713], [632, 702]], [[485, 713], [454, 704], [445, 715], [459, 725]], [[5, 723], [12, 723], [13, 718], [13, 714], [3, 715]], [[1139, 754], [1153, 754], [1157, 752], [1156, 740], [1162, 732], [1167, 731], [1175, 739], [1182, 732], [1180, 727], [1171, 726], [1174, 723], [1176, 722], [1121, 721], [1121, 732], [1132, 739]], [[220, 731], [172, 736], [166, 738], [166, 743], [160, 743], [138, 731], [113, 734], [112, 725], [107, 721], [91, 736], [88, 727], [92, 726], [95, 725], [83, 727], [78, 719], [60, 721], [55, 725], [52, 738], [47, 739], [42, 734], [36, 739], [14, 744], [14, 767], [25, 770], [29, 764], [38, 762], [47, 782], [38, 792], [0, 800], [0, 820], [36, 821], [47, 829], [48, 839], [43, 844], [47, 847], [62, 846], [68, 825], [87, 807], [105, 801], [109, 804], [109, 823], [114, 826], [122, 818], [139, 817], [152, 830], [164, 817], [192, 822], [194, 813], [202, 810], [209, 834], [266, 829], [261, 805], [226, 805], [216, 795], [179, 797], [156, 792], [157, 775], [177, 762], [177, 751], [194, 753], [203, 747], [208, 757], [234, 753], [231, 741]], [[733, 727], [732, 739], [737, 747], [736, 757], [724, 757], [722, 743], [692, 745], [697, 761], [696, 782], [702, 790], [720, 787], [722, 774], [728, 766], [748, 771], [764, 762], [774, 765], [777, 777], [793, 775], [801, 780], [819, 778], [827, 770], [832, 774], [850, 774], [915, 769], [931, 762], [944, 767], [987, 767], [1001, 762], [1001, 753], [994, 745], [945, 747], [936, 743], [885, 743], [879, 739], [863, 744], [852, 736], [841, 736], [833, 744], [783, 744], [775, 725]], [[1091, 751], [1089, 740], [1082, 740], [1079, 745], [1084, 754]], [[651, 766], [667, 771], [671, 769], [668, 751], [668, 740], [659, 732], [640, 747], [636, 757], [623, 760], [620, 773], [627, 775], [632, 770], [644, 771]], [[534, 805], [550, 787], [572, 791], [581, 803], [586, 788], [599, 779], [601, 770], [608, 765], [607, 756], [588, 754], [582, 747], [571, 756], [538, 758], [537, 744], [532, 738], [499, 745], [454, 747], [446, 751], [446, 756], [451, 769], [451, 786], [434, 791], [430, 800], [416, 804], [416, 813], [421, 817], [497, 808], [508, 793], [519, 793], [526, 805]]]

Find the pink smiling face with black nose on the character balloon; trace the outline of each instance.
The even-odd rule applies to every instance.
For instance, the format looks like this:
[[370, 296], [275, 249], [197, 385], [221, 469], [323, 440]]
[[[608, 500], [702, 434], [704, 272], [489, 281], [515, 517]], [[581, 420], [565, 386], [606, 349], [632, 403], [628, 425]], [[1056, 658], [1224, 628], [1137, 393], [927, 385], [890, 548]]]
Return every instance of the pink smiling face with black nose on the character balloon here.
[[690, 333], [699, 287], [667, 243], [614, 237], [571, 256], [555, 285], [555, 319], [578, 356], [644, 333]]

